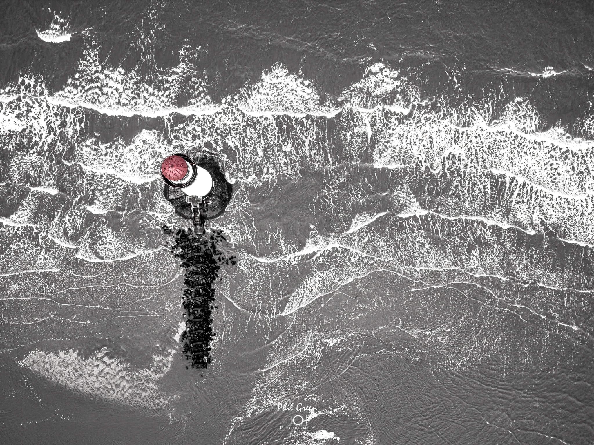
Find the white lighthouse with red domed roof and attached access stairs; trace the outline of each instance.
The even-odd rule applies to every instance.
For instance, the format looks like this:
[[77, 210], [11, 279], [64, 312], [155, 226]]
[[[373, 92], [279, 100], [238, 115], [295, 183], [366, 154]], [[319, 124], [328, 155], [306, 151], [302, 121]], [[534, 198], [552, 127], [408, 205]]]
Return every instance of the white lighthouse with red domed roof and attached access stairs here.
[[204, 233], [204, 198], [213, 190], [213, 177], [185, 154], [173, 154], [161, 163], [161, 175], [165, 183], [179, 189], [186, 196], [192, 209], [192, 221], [198, 233]]

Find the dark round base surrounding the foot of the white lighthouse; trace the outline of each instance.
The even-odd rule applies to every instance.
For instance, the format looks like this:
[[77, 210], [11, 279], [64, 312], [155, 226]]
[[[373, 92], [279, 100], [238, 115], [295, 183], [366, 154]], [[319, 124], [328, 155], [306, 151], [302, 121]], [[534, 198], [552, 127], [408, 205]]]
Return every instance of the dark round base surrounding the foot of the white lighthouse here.
[[[213, 177], [213, 189], [204, 198], [203, 204], [200, 205], [200, 213], [204, 220], [216, 218], [225, 211], [229, 201], [231, 201], [233, 186], [227, 181], [216, 155], [209, 151], [198, 151], [188, 153], [188, 156], [194, 160], [197, 166], [207, 170]], [[187, 195], [184, 192], [166, 185], [163, 189], [163, 195], [173, 205], [178, 215], [188, 220], [192, 219], [192, 207], [186, 201]]]

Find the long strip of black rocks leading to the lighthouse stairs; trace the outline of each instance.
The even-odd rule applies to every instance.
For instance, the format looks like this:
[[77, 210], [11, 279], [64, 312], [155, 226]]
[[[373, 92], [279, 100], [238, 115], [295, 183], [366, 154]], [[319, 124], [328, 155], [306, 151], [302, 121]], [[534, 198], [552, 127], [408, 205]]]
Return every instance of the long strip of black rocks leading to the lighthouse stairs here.
[[226, 256], [219, 244], [226, 241], [222, 231], [198, 234], [192, 228], [181, 228], [175, 233], [168, 226], [163, 232], [173, 236], [169, 246], [185, 268], [184, 295], [186, 328], [181, 335], [182, 352], [191, 361], [192, 368], [206, 368], [210, 363], [210, 343], [213, 332], [214, 281], [225, 265], [235, 265], [235, 257]]

